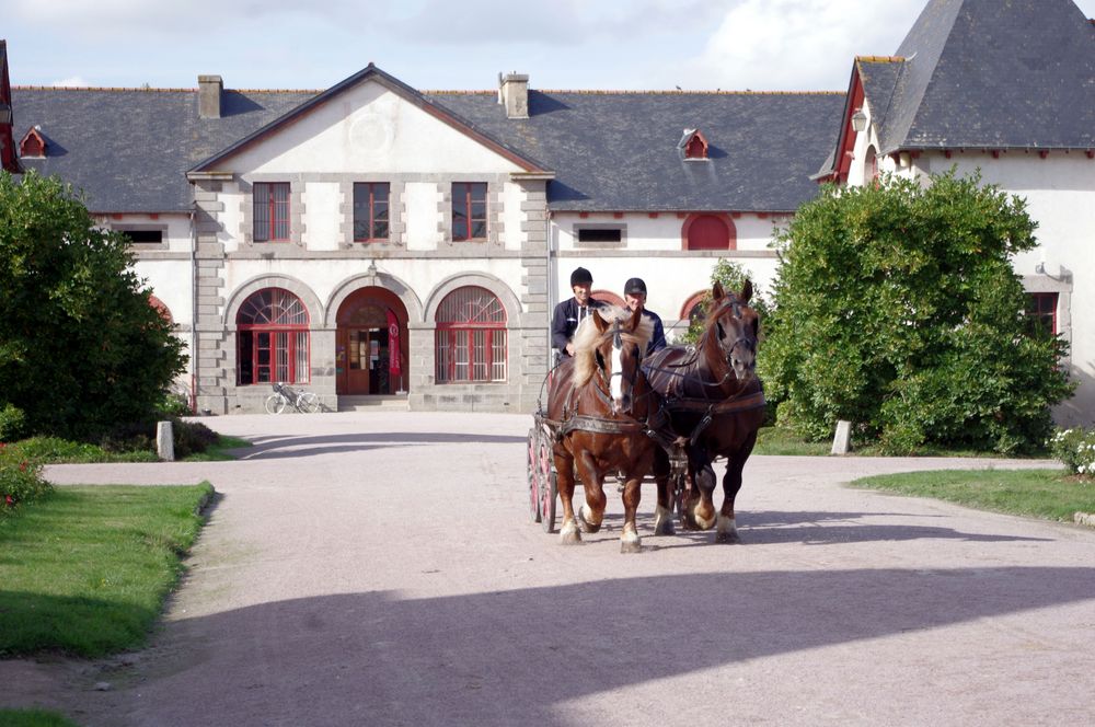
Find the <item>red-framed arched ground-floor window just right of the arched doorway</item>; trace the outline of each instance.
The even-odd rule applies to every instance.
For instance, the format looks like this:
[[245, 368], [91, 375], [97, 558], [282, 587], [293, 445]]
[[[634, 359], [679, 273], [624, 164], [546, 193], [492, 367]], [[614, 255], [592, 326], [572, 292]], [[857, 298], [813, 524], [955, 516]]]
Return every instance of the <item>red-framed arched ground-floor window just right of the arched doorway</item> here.
[[437, 383], [506, 380], [506, 309], [485, 288], [457, 288], [437, 308]]

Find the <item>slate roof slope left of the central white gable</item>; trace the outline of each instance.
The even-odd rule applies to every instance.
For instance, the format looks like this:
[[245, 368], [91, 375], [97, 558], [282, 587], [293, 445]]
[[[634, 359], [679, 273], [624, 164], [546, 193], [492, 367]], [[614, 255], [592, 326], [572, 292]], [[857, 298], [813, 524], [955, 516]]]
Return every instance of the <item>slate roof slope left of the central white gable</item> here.
[[41, 126], [45, 159], [25, 169], [57, 174], [96, 212], [192, 209], [186, 170], [253, 132], [314, 91], [229, 91], [221, 118], [198, 117], [198, 92], [145, 89], [12, 89], [16, 142]]

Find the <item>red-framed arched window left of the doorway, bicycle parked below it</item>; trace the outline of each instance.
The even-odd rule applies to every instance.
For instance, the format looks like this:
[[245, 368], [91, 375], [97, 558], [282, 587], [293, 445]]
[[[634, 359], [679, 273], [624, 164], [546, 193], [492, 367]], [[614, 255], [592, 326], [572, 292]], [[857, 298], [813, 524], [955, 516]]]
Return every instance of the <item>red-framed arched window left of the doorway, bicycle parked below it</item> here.
[[308, 382], [308, 310], [300, 298], [281, 288], [260, 290], [240, 305], [235, 325], [241, 385]]

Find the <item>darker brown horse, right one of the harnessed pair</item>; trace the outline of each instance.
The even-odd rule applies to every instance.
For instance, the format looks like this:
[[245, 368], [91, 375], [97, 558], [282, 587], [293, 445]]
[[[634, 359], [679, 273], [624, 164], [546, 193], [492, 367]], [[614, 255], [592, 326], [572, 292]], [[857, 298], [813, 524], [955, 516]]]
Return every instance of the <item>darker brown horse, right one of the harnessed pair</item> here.
[[[694, 348], [664, 348], [643, 364], [650, 385], [664, 397], [672, 430], [688, 439], [688, 488], [681, 511], [687, 529], [710, 530], [715, 541], [739, 542], [734, 498], [741, 488], [741, 470], [757, 442], [764, 420], [764, 391], [756, 376], [760, 321], [747, 304], [752, 284], [739, 295], [724, 292], [717, 282], [711, 291], [711, 311]], [[723, 507], [714, 505], [716, 457], [726, 458]], [[669, 462], [659, 453], [655, 463], [658, 509], [655, 534], [671, 534], [672, 492]], [[694, 485], [694, 486], [693, 486]]]

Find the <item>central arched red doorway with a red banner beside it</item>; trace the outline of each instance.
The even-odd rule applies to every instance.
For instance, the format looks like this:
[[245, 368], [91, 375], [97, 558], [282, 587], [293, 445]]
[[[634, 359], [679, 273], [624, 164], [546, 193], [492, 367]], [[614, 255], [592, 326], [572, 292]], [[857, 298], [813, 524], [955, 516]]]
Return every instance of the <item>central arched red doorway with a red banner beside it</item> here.
[[390, 290], [355, 290], [338, 307], [335, 391], [345, 395], [405, 393], [407, 311]]

